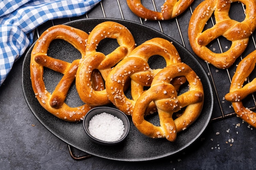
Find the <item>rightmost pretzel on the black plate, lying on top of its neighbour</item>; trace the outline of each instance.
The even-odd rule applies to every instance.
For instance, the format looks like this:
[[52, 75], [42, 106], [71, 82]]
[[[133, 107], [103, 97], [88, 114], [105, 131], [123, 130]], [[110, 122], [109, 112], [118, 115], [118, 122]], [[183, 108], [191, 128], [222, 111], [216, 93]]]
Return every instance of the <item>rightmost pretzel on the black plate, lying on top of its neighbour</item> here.
[[[186, 76], [189, 90], [177, 96], [171, 79]], [[174, 142], [177, 133], [185, 130], [200, 115], [204, 102], [204, 91], [200, 78], [184, 63], [174, 63], [161, 70], [153, 79], [151, 87], [138, 98], [132, 113], [132, 122], [144, 135], [151, 138], [166, 138]], [[154, 101], [160, 126], [144, 119], [144, 112]], [[186, 107], [182, 115], [173, 120], [173, 113]]]

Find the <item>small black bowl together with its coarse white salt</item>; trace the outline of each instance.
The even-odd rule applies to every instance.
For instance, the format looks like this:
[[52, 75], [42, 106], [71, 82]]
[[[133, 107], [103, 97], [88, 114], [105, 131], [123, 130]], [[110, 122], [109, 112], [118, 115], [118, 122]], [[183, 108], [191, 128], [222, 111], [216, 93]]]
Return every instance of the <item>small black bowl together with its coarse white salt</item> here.
[[83, 127], [93, 142], [114, 145], [124, 141], [130, 129], [130, 122], [118, 109], [96, 107], [85, 115]]

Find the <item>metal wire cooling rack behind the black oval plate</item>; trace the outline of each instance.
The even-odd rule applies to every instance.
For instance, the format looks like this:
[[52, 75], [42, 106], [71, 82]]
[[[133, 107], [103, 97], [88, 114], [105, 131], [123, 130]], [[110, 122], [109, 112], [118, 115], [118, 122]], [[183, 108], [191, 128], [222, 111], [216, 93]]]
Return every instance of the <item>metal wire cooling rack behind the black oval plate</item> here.
[[[109, 4], [109, 1], [103, 0], [95, 7], [95, 9], [93, 9], [86, 15], [78, 17], [76, 19], [89, 18], [89, 17], [112, 17], [112, 18], [118, 17], [119, 19], [123, 19], [123, 20], [132, 20], [135, 22], [139, 22], [141, 24], [153, 27], [153, 28], [157, 29], [158, 31], [177, 40], [180, 44], [182, 44], [185, 48], [187, 48], [194, 56], [196, 56], [189, 46], [189, 40], [187, 38], [187, 26], [189, 24], [188, 23], [189, 18], [192, 15], [193, 10], [200, 2], [202, 2], [202, 0], [193, 2], [191, 7], [189, 7], [189, 9], [187, 9], [183, 15], [176, 17], [173, 20], [170, 20], [170, 21], [144, 21], [143, 19], [134, 15], [128, 9], [126, 0], [116, 0], [116, 2], [111, 1], [111, 4]], [[147, 2], [147, 4], [145, 4], [145, 5], [148, 8], [152, 8], [151, 10], [159, 11], [159, 10], [157, 10], [159, 7], [157, 7], [155, 4], [162, 4], [162, 3], [163, 2], [161, 0], [152, 0], [152, 2]], [[111, 7], [111, 9], [109, 9], [110, 7]], [[108, 9], [108, 12], [106, 11], [107, 9]], [[236, 4], [235, 9], [239, 9], [240, 11], [242, 9], [243, 11], [245, 11], [245, 6], [242, 3], [238, 3], [238, 4]], [[112, 13], [109, 12], [109, 10], [111, 10]], [[238, 10], [235, 10], [235, 11], [233, 11], [233, 13], [236, 14], [237, 11]], [[95, 13], [97, 13], [97, 15], [95, 15]], [[119, 13], [120, 13], [120, 15], [119, 15]], [[230, 14], [232, 14], [232, 12]], [[63, 20], [63, 22], [68, 22], [68, 21], [76, 20], [76, 19], [69, 18], [68, 20]], [[242, 17], [242, 19], [243, 19], [243, 17]], [[52, 22], [52, 25], [55, 24], [54, 21], [51, 21], [51, 22]], [[186, 22], [186, 24], [184, 24], [184, 22]], [[214, 17], [211, 17], [208, 25], [213, 26], [214, 22], [215, 22]], [[173, 31], [175, 31], [175, 33], [172, 33]], [[40, 28], [37, 28], [36, 29], [37, 38], [40, 36], [40, 33], [42, 33], [42, 31], [40, 31]], [[246, 52], [243, 53], [243, 56], [240, 57], [240, 60], [243, 59], [247, 54], [249, 54], [250, 52], [252, 52], [253, 50], [256, 49], [255, 33], [250, 37], [249, 42], [251, 45], [249, 47], [247, 47]], [[216, 41], [211, 45], [211, 48], [216, 48], [217, 49], [216, 51], [222, 53], [224, 50], [226, 50], [228, 45], [229, 44], [224, 39], [222, 39], [220, 37], [220, 38], [216, 39]], [[209, 79], [211, 80], [213, 91], [214, 91], [213, 93], [214, 93], [214, 108], [215, 109], [214, 109], [214, 113], [212, 115], [211, 121], [218, 121], [218, 120], [222, 120], [225, 118], [229, 118], [231, 116], [236, 116], [236, 113], [234, 113], [234, 109], [231, 107], [231, 103], [225, 101], [224, 96], [225, 96], [225, 94], [227, 94], [229, 92], [231, 78], [236, 69], [236, 64], [238, 64], [240, 60], [238, 59], [238, 61], [236, 61], [234, 66], [232, 66], [229, 69], [219, 70], [219, 69], [214, 68], [212, 65], [210, 65], [204, 61], [201, 61], [199, 59], [200, 63], [203, 65], [206, 72], [208, 72], [208, 76], [209, 76]], [[247, 80], [250, 81], [250, 78], [248, 78]], [[248, 108], [256, 109], [256, 100], [255, 100], [254, 95], [252, 95], [250, 98], [248, 98], [246, 102], [247, 102]], [[74, 154], [74, 148], [72, 148], [72, 146], [70, 146], [70, 145], [69, 145], [69, 150], [70, 150], [70, 155], [72, 156], [72, 158], [76, 159], [76, 160], [83, 160], [83, 159], [87, 159], [87, 158], [91, 157], [90, 155], [77, 157]]]

